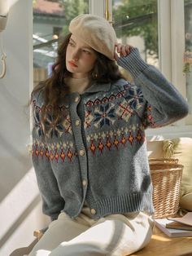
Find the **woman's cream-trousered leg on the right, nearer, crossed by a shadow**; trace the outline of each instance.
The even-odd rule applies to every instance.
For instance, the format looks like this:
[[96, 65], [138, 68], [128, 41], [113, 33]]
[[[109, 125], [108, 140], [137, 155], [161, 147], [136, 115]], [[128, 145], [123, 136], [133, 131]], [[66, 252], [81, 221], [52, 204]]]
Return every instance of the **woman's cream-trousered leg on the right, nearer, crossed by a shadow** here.
[[[55, 248], [50, 256], [125, 256], [151, 239], [153, 220], [146, 214], [114, 214]], [[43, 255], [43, 254], [39, 254]], [[46, 255], [46, 254], [45, 254]]]

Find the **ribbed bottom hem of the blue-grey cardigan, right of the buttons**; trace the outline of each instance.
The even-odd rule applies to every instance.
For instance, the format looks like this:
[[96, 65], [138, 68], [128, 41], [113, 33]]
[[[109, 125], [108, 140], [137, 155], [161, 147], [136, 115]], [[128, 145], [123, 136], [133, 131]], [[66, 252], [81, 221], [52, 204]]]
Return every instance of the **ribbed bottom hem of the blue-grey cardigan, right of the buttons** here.
[[147, 211], [154, 213], [151, 193], [124, 194], [122, 196], [113, 196], [97, 201], [97, 217], [108, 214], [120, 214], [129, 212]]

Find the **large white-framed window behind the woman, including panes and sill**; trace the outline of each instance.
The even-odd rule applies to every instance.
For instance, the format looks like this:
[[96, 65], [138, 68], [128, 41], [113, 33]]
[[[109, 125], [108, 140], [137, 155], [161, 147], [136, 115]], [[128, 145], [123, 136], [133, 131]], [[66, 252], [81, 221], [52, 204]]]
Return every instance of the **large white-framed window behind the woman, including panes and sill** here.
[[192, 0], [41, 0], [41, 5], [40, 0], [34, 2], [34, 84], [49, 76], [59, 40], [68, 33], [70, 20], [81, 13], [101, 15], [112, 23], [119, 42], [137, 46], [142, 58], [159, 68], [188, 100], [188, 117], [172, 128], [149, 133], [171, 134], [177, 130], [177, 134], [189, 132], [192, 136]]

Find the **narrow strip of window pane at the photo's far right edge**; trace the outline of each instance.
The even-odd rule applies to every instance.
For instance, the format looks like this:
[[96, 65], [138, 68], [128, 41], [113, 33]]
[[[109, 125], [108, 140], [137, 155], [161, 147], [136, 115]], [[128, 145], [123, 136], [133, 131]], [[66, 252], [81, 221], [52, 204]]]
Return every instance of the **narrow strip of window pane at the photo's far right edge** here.
[[186, 96], [192, 113], [192, 0], [185, 0], [185, 55]]

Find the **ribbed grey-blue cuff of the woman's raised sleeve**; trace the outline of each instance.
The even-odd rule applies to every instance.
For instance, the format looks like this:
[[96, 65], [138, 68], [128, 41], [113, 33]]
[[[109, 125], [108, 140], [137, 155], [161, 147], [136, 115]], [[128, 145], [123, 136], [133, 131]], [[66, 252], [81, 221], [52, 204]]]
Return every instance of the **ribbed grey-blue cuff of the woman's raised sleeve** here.
[[133, 48], [129, 55], [120, 57], [117, 60], [117, 64], [129, 71], [133, 78], [138, 77], [144, 69], [149, 67], [149, 65], [146, 64], [144, 60], [142, 60], [142, 57], [137, 48]]

